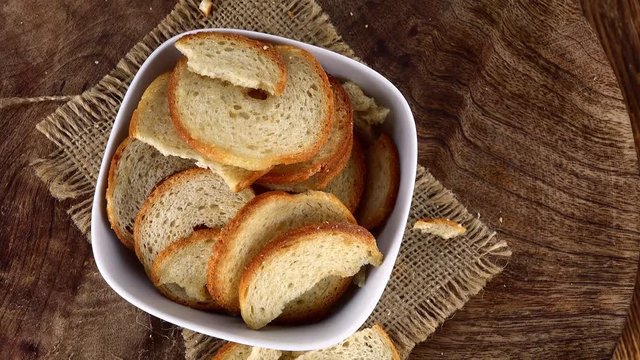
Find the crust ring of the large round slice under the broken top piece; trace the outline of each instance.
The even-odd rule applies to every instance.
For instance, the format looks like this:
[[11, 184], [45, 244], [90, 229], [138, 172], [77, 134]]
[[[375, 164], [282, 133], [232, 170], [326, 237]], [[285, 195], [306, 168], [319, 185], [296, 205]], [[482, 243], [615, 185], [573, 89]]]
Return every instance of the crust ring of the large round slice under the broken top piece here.
[[[331, 126], [333, 121], [333, 91], [331, 90], [331, 87], [329, 85], [327, 74], [322, 69], [322, 66], [320, 66], [320, 63], [313, 57], [313, 55], [309, 54], [308, 52], [293, 46], [278, 45], [276, 47], [279, 50], [282, 48], [282, 49], [288, 49], [286, 51], [295, 50], [296, 52], [298, 52], [301, 56], [303, 56], [305, 59], [309, 61], [309, 63], [313, 68], [316, 69], [316, 72], [318, 73], [318, 75], [322, 80], [322, 83], [323, 83], [322, 87], [324, 89], [324, 93], [326, 97], [328, 98], [328, 101], [325, 104], [326, 108], [325, 108], [324, 127], [322, 128], [322, 131], [320, 133], [320, 138], [318, 139], [318, 141], [315, 144], [313, 144], [313, 146], [299, 153], [283, 155], [283, 156], [273, 156], [273, 157], [264, 158], [258, 161], [255, 159], [248, 159], [242, 156], [234, 155], [228, 150], [221, 149], [218, 146], [215, 146], [212, 144], [205, 144], [202, 141], [195, 139], [194, 137], [191, 136], [187, 128], [182, 123], [182, 119], [180, 118], [180, 111], [178, 109], [178, 104], [176, 99], [176, 88], [179, 82], [178, 77], [181, 71], [180, 68], [182, 67], [183, 69], [186, 69], [187, 59], [186, 57], [183, 56], [178, 60], [171, 74], [171, 78], [169, 79], [169, 89], [168, 89], [169, 113], [171, 114], [171, 120], [173, 121], [173, 124], [176, 127], [176, 131], [189, 146], [191, 146], [194, 150], [196, 150], [197, 152], [199, 152], [200, 154], [202, 154], [203, 156], [205, 156], [210, 160], [217, 161], [221, 164], [239, 166], [249, 170], [264, 170], [266, 168], [269, 168], [277, 164], [292, 164], [292, 163], [306, 161], [312, 158], [313, 156], [315, 156], [318, 153], [318, 151], [320, 151], [320, 148], [322, 147], [322, 145], [325, 144], [325, 142], [329, 137], [329, 132], [331, 131]], [[185, 71], [185, 70], [182, 70], [182, 71]]]

